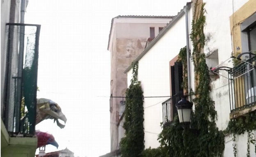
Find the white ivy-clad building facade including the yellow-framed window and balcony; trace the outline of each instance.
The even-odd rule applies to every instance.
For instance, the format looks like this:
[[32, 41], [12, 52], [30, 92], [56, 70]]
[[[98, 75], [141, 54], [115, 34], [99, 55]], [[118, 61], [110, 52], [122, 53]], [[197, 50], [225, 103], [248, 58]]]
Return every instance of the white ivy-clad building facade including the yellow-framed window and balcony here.
[[[167, 100], [164, 96], [169, 94], [173, 96], [174, 86], [171, 83], [175, 73], [172, 73], [173, 69], [170, 66], [174, 66], [177, 60], [176, 55], [184, 46], [193, 50], [189, 36], [194, 13], [193, 2], [192, 0], [191, 4], [185, 6], [187, 11], [183, 9], [188, 13], [187, 36], [185, 22], [182, 22], [185, 21], [185, 13], [178, 13], [180, 16], [177, 15], [172, 20], [173, 25], [167, 25], [160, 36], [149, 44], [149, 49], [145, 49], [142, 55], [134, 60], [139, 65], [137, 77], [138, 81], [141, 81], [144, 96], [158, 96], [144, 100], [145, 148], [160, 146], [158, 142], [158, 135], [161, 132], [160, 122], [164, 124], [171, 122], [173, 115], [176, 114], [171, 111], [176, 108], [172, 100], [174, 97]], [[217, 128], [224, 131], [228, 128], [229, 122], [234, 119], [243, 119], [256, 113], [256, 1], [199, 0], [199, 2], [205, 3], [206, 11], [206, 23], [203, 28], [206, 43], [202, 53], [206, 55], [206, 64], [212, 79], [210, 97], [215, 102]], [[191, 9], [189, 9], [190, 5]], [[176, 32], [180, 33], [176, 34]], [[178, 42], [172, 43], [171, 41], [174, 40]], [[189, 87], [195, 91], [196, 78], [190, 52], [187, 52], [187, 57], [189, 57], [187, 63], [190, 66]], [[212, 68], [219, 70], [215, 71]], [[212, 71], [214, 73], [211, 73]], [[129, 80], [132, 78], [132, 64], [125, 73], [128, 75], [129, 85]], [[242, 125], [255, 124], [250, 120], [246, 123]], [[239, 126], [240, 129], [242, 125]], [[224, 157], [246, 155], [255, 157], [255, 144], [248, 142], [250, 137], [255, 138], [255, 133], [255, 129], [244, 133], [226, 133]]]

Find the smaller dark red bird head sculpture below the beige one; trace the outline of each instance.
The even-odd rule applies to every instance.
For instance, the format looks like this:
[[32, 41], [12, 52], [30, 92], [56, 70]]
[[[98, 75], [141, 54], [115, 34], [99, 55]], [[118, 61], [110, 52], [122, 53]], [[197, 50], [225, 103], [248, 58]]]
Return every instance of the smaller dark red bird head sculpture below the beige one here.
[[36, 130], [37, 136], [37, 148], [41, 146], [46, 146], [47, 144], [51, 144], [56, 148], [59, 147], [59, 144], [55, 141], [54, 137], [50, 133], [41, 132], [40, 130]]

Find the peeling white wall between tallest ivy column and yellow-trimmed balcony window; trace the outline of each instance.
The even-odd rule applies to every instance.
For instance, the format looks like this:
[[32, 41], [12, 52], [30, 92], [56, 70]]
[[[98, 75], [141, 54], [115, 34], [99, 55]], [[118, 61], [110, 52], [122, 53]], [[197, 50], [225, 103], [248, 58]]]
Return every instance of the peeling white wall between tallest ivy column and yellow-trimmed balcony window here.
[[[231, 42], [231, 30], [229, 17], [233, 14], [233, 11], [237, 11], [248, 0], [204, 0], [206, 2], [206, 26], [204, 27], [204, 33], [210, 37], [206, 42], [204, 52], [208, 53], [218, 49], [219, 64], [220, 66], [233, 67], [232, 62], [226, 60], [230, 58], [232, 52]], [[191, 45], [192, 46], [192, 45]], [[192, 48], [191, 48], [192, 49]], [[192, 66], [192, 86], [194, 90], [194, 69]], [[227, 76], [226, 71], [219, 71], [221, 75]], [[228, 79], [220, 76], [219, 79], [211, 83], [212, 91], [211, 97], [215, 101], [215, 110], [217, 111], [218, 120], [216, 122], [219, 130], [226, 129], [229, 123], [230, 102], [229, 102], [229, 85]], [[238, 157], [244, 157], [247, 153], [247, 133], [245, 135], [237, 136], [237, 148]], [[250, 155], [255, 157], [254, 145], [250, 145]], [[224, 157], [233, 157], [233, 141], [232, 137], [227, 135], [225, 137], [225, 150]]]

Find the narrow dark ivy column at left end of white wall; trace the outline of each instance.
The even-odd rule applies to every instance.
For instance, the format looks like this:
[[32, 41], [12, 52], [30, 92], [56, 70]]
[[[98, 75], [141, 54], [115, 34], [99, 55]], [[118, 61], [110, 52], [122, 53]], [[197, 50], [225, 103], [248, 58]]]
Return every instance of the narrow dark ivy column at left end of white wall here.
[[138, 63], [133, 66], [133, 79], [126, 90], [125, 137], [121, 139], [122, 157], [137, 157], [144, 149], [143, 91], [137, 81]]

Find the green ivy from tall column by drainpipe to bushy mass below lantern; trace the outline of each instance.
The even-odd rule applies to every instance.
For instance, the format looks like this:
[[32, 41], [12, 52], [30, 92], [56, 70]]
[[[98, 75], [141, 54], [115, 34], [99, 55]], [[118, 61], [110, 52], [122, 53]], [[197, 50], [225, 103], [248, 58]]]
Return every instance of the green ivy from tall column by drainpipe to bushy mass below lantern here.
[[[204, 16], [204, 3], [198, 7], [195, 2], [195, 11], [192, 20], [192, 33], [190, 38], [193, 44], [192, 61], [195, 73], [195, 91], [193, 102], [195, 111], [191, 116], [190, 128], [183, 129], [178, 116], [171, 125], [163, 127], [159, 135], [160, 147], [157, 150], [145, 150], [147, 157], [222, 157], [224, 152], [224, 133], [218, 130], [215, 121], [217, 112], [215, 103], [210, 97], [210, 75], [206, 65], [205, 54], [202, 53], [205, 44], [203, 27], [206, 17]], [[199, 8], [199, 11], [197, 11]], [[185, 48], [179, 54], [186, 67]], [[184, 66], [185, 65], [185, 66]], [[184, 74], [186, 76], [186, 74]], [[183, 75], [183, 76], [184, 76]], [[183, 87], [187, 86], [187, 77], [184, 77]], [[160, 154], [153, 154], [159, 152]], [[153, 154], [152, 156], [150, 156]], [[144, 156], [146, 157], [146, 156]]]

